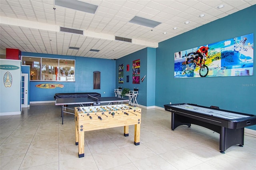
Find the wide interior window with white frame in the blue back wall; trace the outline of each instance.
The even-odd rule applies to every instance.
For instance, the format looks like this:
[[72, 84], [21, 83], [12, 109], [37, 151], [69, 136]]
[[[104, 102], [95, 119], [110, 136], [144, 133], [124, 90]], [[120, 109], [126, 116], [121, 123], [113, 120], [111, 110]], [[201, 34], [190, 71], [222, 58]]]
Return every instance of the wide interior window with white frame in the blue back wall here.
[[41, 57], [22, 57], [30, 65], [30, 80], [75, 81], [75, 60]]

